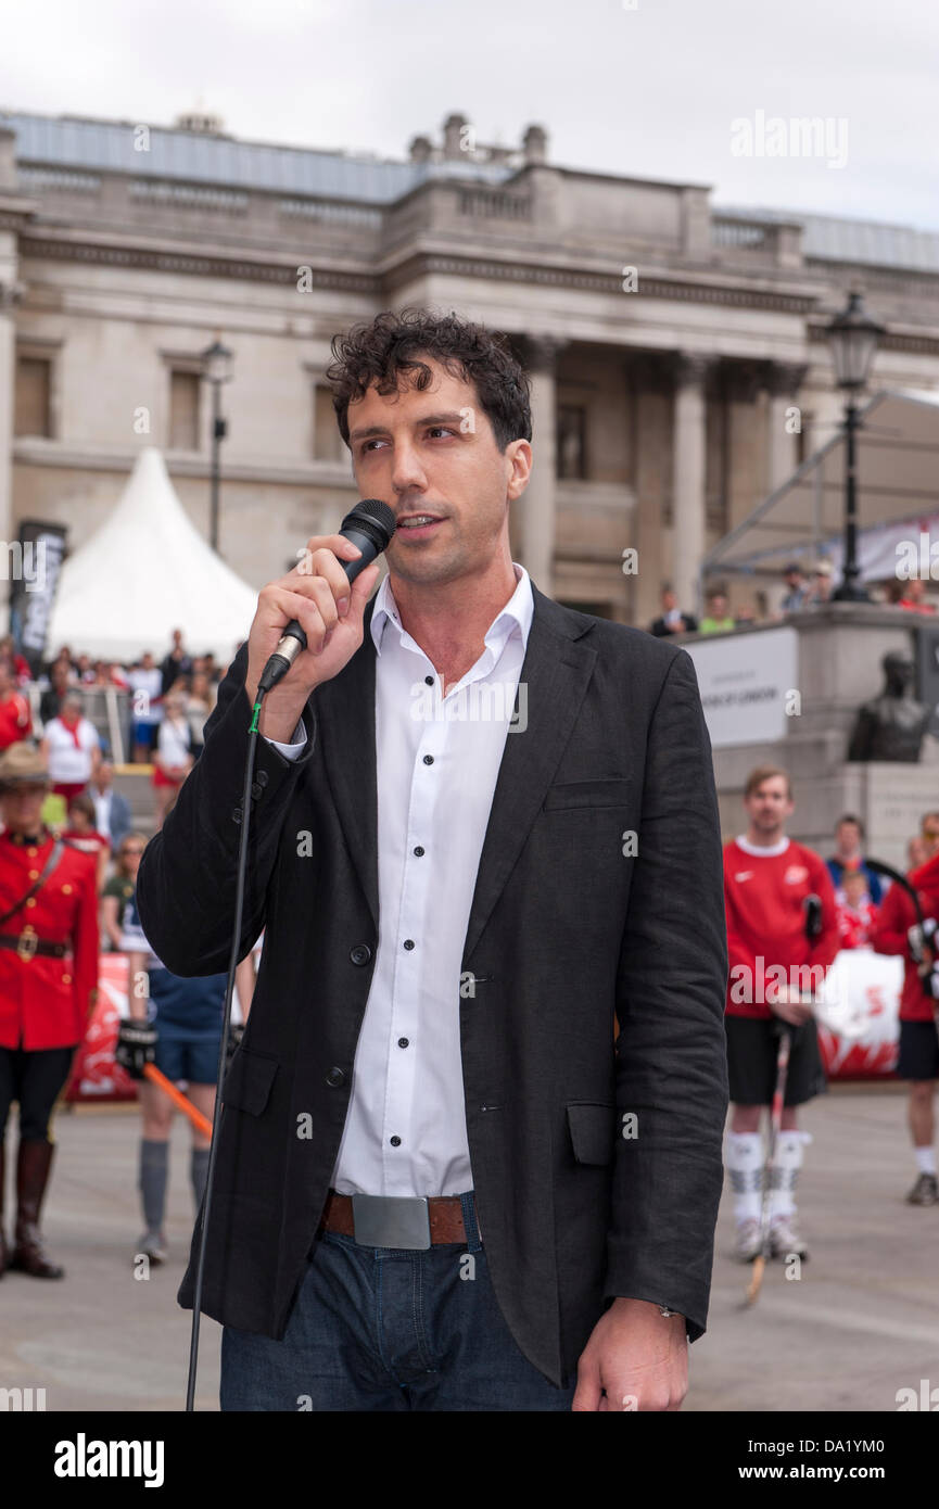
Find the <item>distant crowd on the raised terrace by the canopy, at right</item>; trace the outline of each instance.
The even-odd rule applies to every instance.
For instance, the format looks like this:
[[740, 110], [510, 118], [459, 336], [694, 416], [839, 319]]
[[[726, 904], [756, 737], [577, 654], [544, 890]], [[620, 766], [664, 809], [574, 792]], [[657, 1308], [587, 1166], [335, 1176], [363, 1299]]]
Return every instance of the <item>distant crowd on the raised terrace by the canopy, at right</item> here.
[[[835, 573], [832, 563], [818, 560], [806, 572], [796, 561], [788, 564], [782, 573], [784, 595], [776, 613], [768, 613], [753, 604], [738, 607], [731, 611], [731, 601], [725, 585], [714, 585], [705, 598], [707, 611], [697, 619], [693, 613], [685, 613], [678, 593], [670, 585], [661, 590], [661, 614], [649, 625], [649, 632], [657, 638], [670, 634], [728, 634], [731, 629], [750, 628], [753, 623], [784, 622], [794, 613], [811, 613], [823, 608], [832, 601], [835, 592]], [[883, 602], [886, 607], [904, 608], [907, 613], [937, 611], [930, 602], [925, 582], [915, 576], [909, 581], [888, 581], [883, 587], [871, 585], [873, 602]]]

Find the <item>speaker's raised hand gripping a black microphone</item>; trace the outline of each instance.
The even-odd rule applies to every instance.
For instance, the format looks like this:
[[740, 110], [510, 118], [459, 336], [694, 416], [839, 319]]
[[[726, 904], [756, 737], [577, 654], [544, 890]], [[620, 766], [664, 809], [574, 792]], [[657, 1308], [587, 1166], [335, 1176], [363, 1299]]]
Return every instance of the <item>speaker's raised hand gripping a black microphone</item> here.
[[338, 534], [312, 536], [303, 560], [261, 590], [248, 637], [245, 690], [254, 706], [258, 687], [272, 687], [260, 724], [267, 738], [288, 741], [311, 691], [358, 650], [379, 573], [374, 558], [394, 530], [388, 504], [368, 498], [346, 515]]

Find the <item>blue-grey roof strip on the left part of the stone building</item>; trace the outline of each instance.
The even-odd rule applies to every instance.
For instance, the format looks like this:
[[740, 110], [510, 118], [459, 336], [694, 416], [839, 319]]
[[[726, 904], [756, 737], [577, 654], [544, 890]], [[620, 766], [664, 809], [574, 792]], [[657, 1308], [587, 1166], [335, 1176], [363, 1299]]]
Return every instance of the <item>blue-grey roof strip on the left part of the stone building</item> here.
[[273, 193], [391, 204], [427, 178], [468, 177], [503, 183], [513, 169], [503, 164], [447, 161], [405, 163], [365, 154], [317, 151], [242, 142], [231, 136], [151, 125], [148, 151], [134, 149], [140, 122], [89, 121], [75, 116], [0, 112], [0, 127], [17, 133], [17, 158], [30, 166], [82, 172], [131, 172], [137, 178], [178, 178]]

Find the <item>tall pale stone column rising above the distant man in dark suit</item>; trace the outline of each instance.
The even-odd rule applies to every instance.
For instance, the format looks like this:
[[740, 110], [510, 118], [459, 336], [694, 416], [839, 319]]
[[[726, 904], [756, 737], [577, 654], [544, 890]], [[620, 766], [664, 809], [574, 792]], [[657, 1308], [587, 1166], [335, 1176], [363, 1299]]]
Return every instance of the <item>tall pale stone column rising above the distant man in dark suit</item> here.
[[697, 611], [697, 575], [705, 552], [705, 380], [711, 358], [679, 352], [672, 427], [672, 582], [685, 613]]

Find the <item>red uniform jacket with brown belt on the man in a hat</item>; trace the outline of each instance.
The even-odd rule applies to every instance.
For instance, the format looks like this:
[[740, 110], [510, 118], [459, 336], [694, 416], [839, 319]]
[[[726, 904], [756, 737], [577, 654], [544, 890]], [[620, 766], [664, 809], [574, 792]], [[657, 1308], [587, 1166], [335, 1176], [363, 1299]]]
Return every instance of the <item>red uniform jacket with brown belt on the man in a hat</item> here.
[[[20, 844], [0, 833], [0, 916], [26, 896], [51, 851], [53, 836]], [[72, 1047], [85, 1037], [98, 985], [98, 895], [95, 857], [65, 845], [42, 889], [0, 924], [20, 936], [32, 927], [48, 943], [66, 943], [63, 958], [21, 958], [0, 948], [0, 1047]]]

